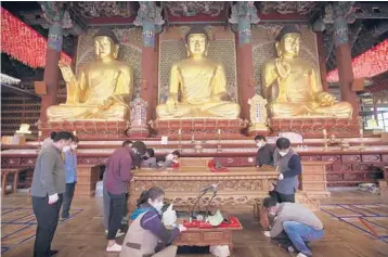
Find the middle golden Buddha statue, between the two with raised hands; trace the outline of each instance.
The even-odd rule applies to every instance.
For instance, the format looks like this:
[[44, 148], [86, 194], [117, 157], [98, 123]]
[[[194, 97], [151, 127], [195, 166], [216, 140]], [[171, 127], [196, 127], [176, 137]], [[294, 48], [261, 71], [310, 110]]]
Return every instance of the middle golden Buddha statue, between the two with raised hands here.
[[190, 34], [187, 59], [170, 70], [169, 95], [156, 107], [159, 119], [237, 118], [240, 105], [229, 101], [225, 70], [221, 63], [208, 60], [205, 34]]

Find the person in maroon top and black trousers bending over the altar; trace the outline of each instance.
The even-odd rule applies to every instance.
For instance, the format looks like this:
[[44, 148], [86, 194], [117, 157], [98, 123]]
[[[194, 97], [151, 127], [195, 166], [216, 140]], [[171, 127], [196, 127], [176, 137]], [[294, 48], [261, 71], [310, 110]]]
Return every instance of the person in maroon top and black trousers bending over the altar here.
[[121, 245], [118, 245], [115, 239], [126, 213], [126, 195], [132, 179], [130, 171], [133, 166], [132, 156], [142, 156], [145, 151], [146, 145], [142, 141], [135, 141], [131, 146], [115, 150], [106, 162], [104, 188], [109, 195], [106, 252], [121, 252]]

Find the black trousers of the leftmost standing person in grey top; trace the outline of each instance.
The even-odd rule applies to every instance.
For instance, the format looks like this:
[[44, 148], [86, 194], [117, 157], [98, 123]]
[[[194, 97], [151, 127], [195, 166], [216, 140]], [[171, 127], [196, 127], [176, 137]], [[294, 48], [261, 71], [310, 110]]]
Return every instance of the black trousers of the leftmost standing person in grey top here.
[[59, 201], [50, 205], [49, 196], [33, 196], [33, 209], [38, 221], [34, 245], [34, 257], [50, 256], [51, 242], [54, 237], [57, 220], [60, 218], [62, 197], [63, 195], [59, 194]]

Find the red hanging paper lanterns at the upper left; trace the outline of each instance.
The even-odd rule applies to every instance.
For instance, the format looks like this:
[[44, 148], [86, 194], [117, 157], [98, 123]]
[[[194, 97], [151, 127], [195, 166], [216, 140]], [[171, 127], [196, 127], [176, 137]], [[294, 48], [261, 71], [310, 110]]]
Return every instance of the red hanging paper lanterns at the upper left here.
[[[47, 38], [1, 8], [1, 52], [33, 68], [44, 67], [47, 44]], [[62, 51], [61, 62], [70, 64], [72, 57]]]

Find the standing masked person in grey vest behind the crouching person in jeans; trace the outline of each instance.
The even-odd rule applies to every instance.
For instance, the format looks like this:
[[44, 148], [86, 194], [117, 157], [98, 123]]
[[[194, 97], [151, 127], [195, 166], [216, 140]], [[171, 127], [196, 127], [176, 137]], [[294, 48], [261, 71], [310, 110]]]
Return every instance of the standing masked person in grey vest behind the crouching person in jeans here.
[[274, 163], [280, 172], [276, 183], [276, 194], [280, 203], [295, 203], [295, 192], [299, 187], [298, 176], [301, 174], [299, 155], [290, 149], [290, 141], [286, 138], [276, 140]]

